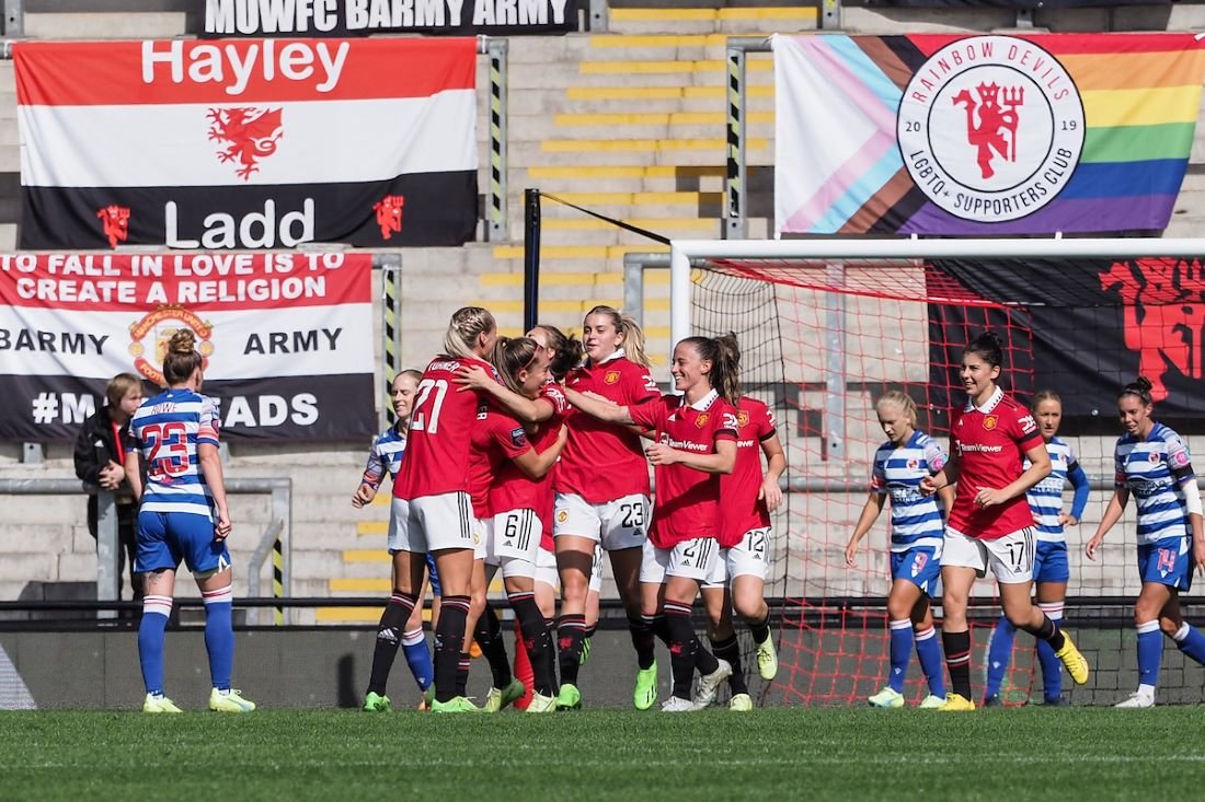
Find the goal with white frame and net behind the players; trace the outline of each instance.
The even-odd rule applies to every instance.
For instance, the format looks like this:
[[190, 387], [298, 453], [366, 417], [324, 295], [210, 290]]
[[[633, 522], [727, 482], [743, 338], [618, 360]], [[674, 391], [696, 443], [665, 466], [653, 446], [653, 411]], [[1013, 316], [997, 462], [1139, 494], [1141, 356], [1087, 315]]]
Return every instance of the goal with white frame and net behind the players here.
[[[1064, 678], [1064, 692], [1077, 704], [1110, 704], [1133, 691], [1131, 609], [1140, 589], [1133, 505], [1095, 561], [1087, 560], [1082, 544], [1112, 493], [1122, 385], [1140, 373], [1151, 378], [1157, 419], [1188, 436], [1191, 449], [1191, 436], [1205, 432], [1199, 391], [1205, 270], [1197, 259], [1203, 246], [1170, 240], [674, 243], [674, 341], [735, 332], [742, 387], [772, 407], [787, 450], [789, 493], [774, 521], [766, 585], [766, 595], [781, 600], [781, 668], [765, 701], [864, 704], [886, 685], [886, 507], [853, 567], [844, 555], [866, 501], [875, 449], [886, 440], [874, 405], [883, 393], [903, 390], [917, 403], [918, 429], [948, 443], [951, 413], [965, 403], [957, 372], [962, 352], [986, 329], [1005, 343], [1000, 384], [1006, 390], [1024, 403], [1040, 389], [1062, 396], [1059, 436], [1071, 443], [1092, 483], [1083, 520], [1066, 530], [1065, 624], [1094, 673], [1083, 688], [1072, 689]], [[1070, 489], [1064, 501], [1069, 511]], [[993, 580], [976, 583], [974, 597], [972, 682], [981, 696], [987, 643], [1000, 614]], [[1186, 611], [1192, 620], [1192, 603]], [[1019, 632], [1003, 685], [1006, 703], [1041, 700], [1035, 668], [1034, 639]], [[1200, 702], [1203, 682], [1205, 672], [1168, 645], [1159, 700]], [[913, 654], [906, 696], [915, 703], [927, 692]]]

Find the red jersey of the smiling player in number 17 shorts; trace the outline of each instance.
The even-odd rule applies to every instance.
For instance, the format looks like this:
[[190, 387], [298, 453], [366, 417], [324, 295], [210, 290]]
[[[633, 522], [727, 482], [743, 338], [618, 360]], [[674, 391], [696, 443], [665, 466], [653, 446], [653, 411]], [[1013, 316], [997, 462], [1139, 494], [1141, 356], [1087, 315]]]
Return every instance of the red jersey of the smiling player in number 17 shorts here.
[[1024, 494], [987, 509], [975, 503], [975, 495], [983, 488], [999, 490], [1012, 484], [1023, 472], [1025, 452], [1042, 446], [1029, 409], [997, 388], [982, 407], [968, 401], [952, 431], [958, 490], [950, 527], [968, 537], [993, 541], [1033, 526], [1034, 514]]

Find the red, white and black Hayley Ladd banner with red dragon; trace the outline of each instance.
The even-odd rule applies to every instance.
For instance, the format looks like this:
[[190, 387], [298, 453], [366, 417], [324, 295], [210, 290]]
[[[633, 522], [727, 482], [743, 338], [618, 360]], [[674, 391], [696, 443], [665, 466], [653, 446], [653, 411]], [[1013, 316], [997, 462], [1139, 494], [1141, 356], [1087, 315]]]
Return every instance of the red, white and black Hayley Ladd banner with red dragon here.
[[20, 42], [20, 247], [457, 246], [474, 39]]

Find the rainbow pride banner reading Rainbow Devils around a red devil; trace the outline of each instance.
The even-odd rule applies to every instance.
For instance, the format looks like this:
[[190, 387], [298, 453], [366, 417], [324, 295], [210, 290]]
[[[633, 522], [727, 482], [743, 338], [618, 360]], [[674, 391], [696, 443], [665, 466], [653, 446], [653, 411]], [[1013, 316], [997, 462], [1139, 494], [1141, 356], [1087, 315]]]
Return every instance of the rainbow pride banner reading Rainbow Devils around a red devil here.
[[1162, 231], [1192, 34], [774, 37], [775, 232]]

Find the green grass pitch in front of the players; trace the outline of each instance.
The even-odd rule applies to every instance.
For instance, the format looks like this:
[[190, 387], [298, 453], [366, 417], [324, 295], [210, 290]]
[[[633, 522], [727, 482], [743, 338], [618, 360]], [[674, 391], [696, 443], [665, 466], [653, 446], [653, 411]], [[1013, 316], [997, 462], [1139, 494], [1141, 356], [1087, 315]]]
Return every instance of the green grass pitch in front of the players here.
[[[178, 701], [178, 700], [177, 700]], [[1199, 708], [0, 713], [5, 800], [1191, 800]]]

